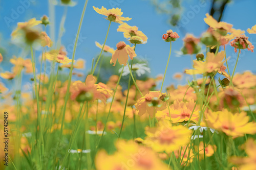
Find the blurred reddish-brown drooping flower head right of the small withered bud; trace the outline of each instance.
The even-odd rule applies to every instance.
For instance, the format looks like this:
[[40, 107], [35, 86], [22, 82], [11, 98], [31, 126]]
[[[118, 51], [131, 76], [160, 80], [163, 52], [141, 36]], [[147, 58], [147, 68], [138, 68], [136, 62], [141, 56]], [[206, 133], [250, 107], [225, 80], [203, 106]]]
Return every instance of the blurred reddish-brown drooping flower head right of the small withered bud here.
[[199, 38], [194, 37], [192, 34], [187, 34], [183, 39], [184, 46], [181, 48], [182, 53], [185, 54], [197, 54], [201, 50], [201, 47], [198, 45], [200, 42]]

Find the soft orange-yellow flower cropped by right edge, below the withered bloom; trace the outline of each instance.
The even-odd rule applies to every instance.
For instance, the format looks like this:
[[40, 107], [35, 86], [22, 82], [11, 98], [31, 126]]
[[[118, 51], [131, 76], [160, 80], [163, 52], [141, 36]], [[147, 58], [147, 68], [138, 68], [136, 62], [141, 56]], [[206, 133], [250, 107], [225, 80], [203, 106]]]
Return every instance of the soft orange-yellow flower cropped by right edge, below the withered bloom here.
[[243, 74], [234, 75], [232, 82], [237, 88], [252, 88], [256, 86], [256, 76], [245, 71]]

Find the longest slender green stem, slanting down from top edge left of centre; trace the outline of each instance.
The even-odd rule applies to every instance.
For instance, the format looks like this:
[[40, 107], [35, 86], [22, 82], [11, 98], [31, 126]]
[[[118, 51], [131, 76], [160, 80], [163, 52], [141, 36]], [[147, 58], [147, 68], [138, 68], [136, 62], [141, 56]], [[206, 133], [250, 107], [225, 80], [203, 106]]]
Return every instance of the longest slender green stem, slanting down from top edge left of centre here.
[[68, 100], [69, 100], [69, 91], [70, 91], [70, 85], [71, 85], [71, 79], [72, 79], [72, 71], [73, 71], [76, 47], [77, 47], [77, 42], [78, 42], [81, 26], [82, 26], [83, 16], [84, 16], [84, 13], [86, 12], [87, 3], [88, 3], [88, 0], [86, 0], [86, 3], [84, 3], [81, 19], [80, 19], [77, 34], [76, 34], [76, 40], [75, 40], [75, 43], [74, 43], [74, 51], [73, 51], [73, 55], [72, 55], [72, 62], [71, 62], [71, 67], [70, 67], [70, 72], [69, 72], [68, 87], [67, 87], [65, 103], [64, 103], [63, 111], [62, 111], [62, 119], [61, 119], [61, 127], [60, 127], [60, 135], [61, 136], [62, 136], [62, 131], [63, 131], [63, 124], [64, 124], [64, 119], [65, 119], [66, 107], [67, 107], [67, 103], [68, 103]]

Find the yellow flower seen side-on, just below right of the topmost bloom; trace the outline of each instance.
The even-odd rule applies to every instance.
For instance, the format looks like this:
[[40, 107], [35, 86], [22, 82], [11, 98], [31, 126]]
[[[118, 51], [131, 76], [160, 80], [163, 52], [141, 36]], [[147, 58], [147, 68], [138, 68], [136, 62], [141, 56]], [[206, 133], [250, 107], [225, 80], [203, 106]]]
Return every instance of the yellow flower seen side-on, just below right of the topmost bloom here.
[[123, 32], [124, 38], [130, 38], [132, 36], [139, 36], [144, 42], [147, 41], [147, 37], [141, 31], [138, 31], [138, 27], [129, 26], [127, 23], [123, 23], [117, 29], [119, 32]]

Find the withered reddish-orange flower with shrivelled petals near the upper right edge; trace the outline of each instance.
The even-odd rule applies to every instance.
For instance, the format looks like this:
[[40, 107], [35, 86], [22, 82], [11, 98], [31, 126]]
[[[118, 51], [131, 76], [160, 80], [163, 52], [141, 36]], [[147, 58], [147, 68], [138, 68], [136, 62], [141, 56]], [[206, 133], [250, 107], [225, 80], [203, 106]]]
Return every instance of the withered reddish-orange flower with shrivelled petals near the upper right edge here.
[[240, 35], [230, 42], [230, 45], [234, 47], [234, 52], [237, 53], [237, 48], [244, 50], [247, 48], [248, 51], [253, 52], [254, 46], [248, 40], [245, 35]]

